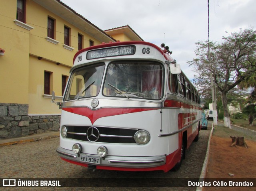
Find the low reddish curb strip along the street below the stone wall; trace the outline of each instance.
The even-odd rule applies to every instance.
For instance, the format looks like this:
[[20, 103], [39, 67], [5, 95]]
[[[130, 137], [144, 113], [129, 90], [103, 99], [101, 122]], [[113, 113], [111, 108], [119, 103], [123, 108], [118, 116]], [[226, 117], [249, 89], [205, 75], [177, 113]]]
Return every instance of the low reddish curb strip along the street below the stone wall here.
[[[30, 138], [30, 137], [25, 137], [22, 140], [10, 140], [7, 142], [3, 142], [0, 143], [0, 146], [7, 146], [7, 145], [14, 145], [14, 144], [22, 144], [22, 143], [28, 143], [28, 142], [35, 142], [35, 141], [39, 141], [39, 140], [46, 140], [46, 139], [51, 139], [51, 138], [57, 138], [60, 137], [60, 135], [55, 134], [55, 135], [49, 135], [49, 136], [45, 136], [45, 135], [41, 135], [35, 138]], [[18, 139], [18, 138], [17, 138]]]

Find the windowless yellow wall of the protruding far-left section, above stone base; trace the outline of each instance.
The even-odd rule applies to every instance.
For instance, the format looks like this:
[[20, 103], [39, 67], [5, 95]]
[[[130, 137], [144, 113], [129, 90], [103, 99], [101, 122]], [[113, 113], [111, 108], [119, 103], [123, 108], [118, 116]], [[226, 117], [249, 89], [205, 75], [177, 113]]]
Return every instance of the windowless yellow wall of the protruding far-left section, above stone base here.
[[1, 1], [0, 102], [28, 104], [29, 31], [17, 26], [16, 0]]

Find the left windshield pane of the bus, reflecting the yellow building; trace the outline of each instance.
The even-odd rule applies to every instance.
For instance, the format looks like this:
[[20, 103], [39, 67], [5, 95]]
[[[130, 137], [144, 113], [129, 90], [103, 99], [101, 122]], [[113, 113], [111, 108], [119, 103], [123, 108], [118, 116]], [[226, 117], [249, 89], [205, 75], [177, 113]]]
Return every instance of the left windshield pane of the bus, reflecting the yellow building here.
[[97, 96], [104, 74], [104, 63], [80, 67], [72, 72], [65, 101]]

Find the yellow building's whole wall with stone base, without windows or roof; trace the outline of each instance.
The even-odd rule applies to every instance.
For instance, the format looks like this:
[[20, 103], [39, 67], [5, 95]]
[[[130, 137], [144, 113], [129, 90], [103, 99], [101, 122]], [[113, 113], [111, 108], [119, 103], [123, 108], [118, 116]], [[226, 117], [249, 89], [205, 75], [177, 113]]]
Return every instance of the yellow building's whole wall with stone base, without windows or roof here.
[[[51, 73], [50, 92], [61, 102], [62, 75], [68, 79], [78, 33], [83, 48], [90, 40], [102, 43], [33, 0], [26, 0], [26, 24], [32, 27], [27, 30], [15, 24], [16, 8], [17, 0], [0, 2], [0, 139], [58, 130], [61, 110], [44, 95], [44, 71]], [[46, 40], [48, 16], [55, 19], [57, 44]], [[64, 26], [70, 28], [71, 50], [63, 46]]]

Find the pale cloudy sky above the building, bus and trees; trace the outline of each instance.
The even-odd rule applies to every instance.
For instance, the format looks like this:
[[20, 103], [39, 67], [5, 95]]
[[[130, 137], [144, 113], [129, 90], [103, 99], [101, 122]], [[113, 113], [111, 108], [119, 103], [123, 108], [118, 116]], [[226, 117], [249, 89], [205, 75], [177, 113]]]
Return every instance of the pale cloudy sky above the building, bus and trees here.
[[[208, 38], [207, 0], [61, 0], [101, 30], [129, 25], [144, 41], [169, 46], [172, 57], [192, 80], [187, 61], [196, 42]], [[256, 29], [256, 0], [209, 0], [209, 40], [245, 28]]]

